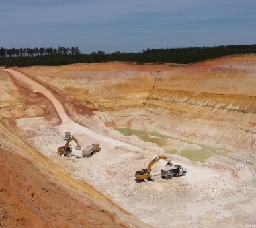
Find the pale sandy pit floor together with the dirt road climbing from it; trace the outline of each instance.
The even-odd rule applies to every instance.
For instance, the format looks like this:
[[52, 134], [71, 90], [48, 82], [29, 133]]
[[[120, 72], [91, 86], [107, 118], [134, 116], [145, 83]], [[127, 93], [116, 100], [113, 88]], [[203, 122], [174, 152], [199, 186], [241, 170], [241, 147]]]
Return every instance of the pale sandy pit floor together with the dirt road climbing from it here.
[[[256, 190], [252, 181], [255, 170], [246, 163], [221, 156], [212, 156], [206, 163], [196, 163], [178, 155], [168, 155], [174, 164], [187, 169], [186, 176], [168, 181], [162, 179], [159, 174], [165, 161], [159, 161], [151, 171], [156, 181], [138, 183], [135, 172], [163, 154], [161, 148], [135, 136], [124, 137], [113, 128], [105, 127], [101, 112], [81, 119], [87, 127], [76, 123], [46, 87], [17, 71], [7, 71], [29, 90], [44, 94], [61, 120], [58, 125], [43, 117], [17, 119], [22, 138], [127, 212], [153, 227], [256, 227]], [[81, 150], [75, 150], [73, 142], [73, 156], [59, 156], [56, 149], [64, 144], [65, 131], [74, 134], [82, 148], [99, 142], [101, 152], [81, 158]]]

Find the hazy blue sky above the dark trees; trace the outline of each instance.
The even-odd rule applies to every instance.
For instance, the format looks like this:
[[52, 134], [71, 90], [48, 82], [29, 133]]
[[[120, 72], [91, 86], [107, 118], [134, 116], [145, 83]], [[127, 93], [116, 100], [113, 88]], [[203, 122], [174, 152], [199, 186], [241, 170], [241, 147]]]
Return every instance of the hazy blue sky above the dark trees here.
[[82, 53], [256, 43], [255, 0], [0, 0], [0, 47]]

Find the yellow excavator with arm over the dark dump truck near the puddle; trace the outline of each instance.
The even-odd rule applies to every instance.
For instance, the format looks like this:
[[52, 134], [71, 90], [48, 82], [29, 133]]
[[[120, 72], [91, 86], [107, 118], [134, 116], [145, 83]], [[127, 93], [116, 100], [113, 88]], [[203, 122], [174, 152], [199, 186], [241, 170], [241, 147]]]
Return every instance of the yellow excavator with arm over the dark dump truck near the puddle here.
[[155, 163], [157, 163], [157, 161], [159, 161], [160, 159], [163, 159], [163, 160], [167, 161], [167, 164], [165, 165], [165, 166], [167, 166], [167, 167], [173, 165], [173, 164], [171, 163], [171, 161], [170, 161], [167, 157], [159, 155], [159, 156], [155, 157], [155, 159], [153, 159], [153, 160], [148, 164], [148, 169], [142, 169], [142, 171], [141, 171], [141, 170], [140, 170], [140, 171], [137, 171], [137, 172], [135, 173], [135, 178], [136, 178], [137, 180], [145, 181], [145, 182], [147, 182], [147, 181], [149, 181], [149, 180], [155, 181], [155, 178], [152, 177], [152, 175], [150, 174], [150, 171], [151, 171], [152, 165], [154, 165]]

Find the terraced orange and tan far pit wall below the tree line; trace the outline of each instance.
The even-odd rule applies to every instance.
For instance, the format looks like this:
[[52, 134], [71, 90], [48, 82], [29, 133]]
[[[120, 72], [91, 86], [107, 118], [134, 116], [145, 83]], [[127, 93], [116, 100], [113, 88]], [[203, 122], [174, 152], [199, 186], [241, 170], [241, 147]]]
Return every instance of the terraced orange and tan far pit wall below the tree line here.
[[181, 66], [90, 63], [17, 70], [104, 111], [107, 126], [253, 152], [255, 65], [255, 55], [243, 55]]

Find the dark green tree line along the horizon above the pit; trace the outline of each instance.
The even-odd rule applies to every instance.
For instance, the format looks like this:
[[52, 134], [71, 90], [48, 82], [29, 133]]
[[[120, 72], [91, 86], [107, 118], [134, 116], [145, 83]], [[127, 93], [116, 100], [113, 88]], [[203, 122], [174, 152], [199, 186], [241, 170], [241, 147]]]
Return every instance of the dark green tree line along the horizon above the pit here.
[[222, 45], [214, 47], [183, 47], [143, 49], [138, 53], [104, 51], [81, 53], [76, 47], [0, 48], [0, 65], [5, 67], [32, 65], [67, 65], [73, 63], [102, 63], [122, 61], [131, 63], [196, 63], [226, 55], [256, 53], [256, 45]]

